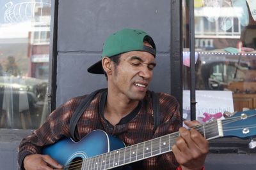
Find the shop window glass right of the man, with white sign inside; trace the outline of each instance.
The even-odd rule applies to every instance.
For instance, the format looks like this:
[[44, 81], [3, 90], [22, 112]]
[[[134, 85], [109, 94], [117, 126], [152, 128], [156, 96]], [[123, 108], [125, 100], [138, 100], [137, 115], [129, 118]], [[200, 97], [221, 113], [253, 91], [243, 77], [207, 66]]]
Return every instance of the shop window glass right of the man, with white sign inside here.
[[[189, 51], [188, 2], [183, 1], [185, 52]], [[195, 0], [194, 7], [196, 119], [219, 113], [223, 118], [225, 111], [255, 109], [256, 1]], [[184, 110], [188, 111], [190, 69], [186, 55], [183, 57], [184, 94], [187, 95]]]

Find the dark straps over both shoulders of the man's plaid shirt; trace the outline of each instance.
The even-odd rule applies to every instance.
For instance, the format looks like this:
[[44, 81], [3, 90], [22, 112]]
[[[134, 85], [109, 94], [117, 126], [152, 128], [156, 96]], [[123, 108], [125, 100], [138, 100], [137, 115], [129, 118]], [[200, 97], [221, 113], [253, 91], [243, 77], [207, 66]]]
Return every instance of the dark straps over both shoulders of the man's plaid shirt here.
[[[79, 106], [76, 108], [74, 114], [72, 115], [70, 119], [70, 124], [69, 124], [69, 131], [73, 139], [75, 138], [75, 129], [76, 129], [76, 124], [81, 117], [81, 115], [84, 113], [84, 110], [88, 108], [89, 104], [92, 102], [93, 98], [98, 94], [99, 92], [103, 92], [104, 90], [107, 89], [99, 89], [88, 96], [85, 97], [84, 101], [79, 104]], [[154, 115], [154, 131], [156, 131], [157, 127], [160, 124], [160, 119], [159, 119], [159, 97], [154, 91], [151, 91], [151, 97], [152, 97], [152, 105], [153, 105], [153, 115]]]

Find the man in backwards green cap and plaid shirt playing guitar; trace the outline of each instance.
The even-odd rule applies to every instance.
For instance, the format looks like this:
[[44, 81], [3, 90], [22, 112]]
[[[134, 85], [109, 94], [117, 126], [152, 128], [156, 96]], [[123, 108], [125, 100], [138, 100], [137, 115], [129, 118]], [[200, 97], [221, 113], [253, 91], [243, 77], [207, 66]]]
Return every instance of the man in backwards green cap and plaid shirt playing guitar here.
[[[108, 90], [93, 97], [76, 124], [75, 137], [80, 140], [95, 129], [124, 141], [126, 146], [180, 132], [172, 152], [141, 160], [126, 166], [129, 169], [204, 169], [208, 143], [195, 129], [180, 125], [177, 100], [164, 93], [159, 97], [160, 124], [154, 127], [154, 111], [148, 84], [156, 66], [153, 39], [138, 29], [122, 29], [105, 41], [102, 60], [88, 68], [90, 73], [106, 74]], [[75, 97], [53, 111], [45, 124], [19, 146], [19, 164], [24, 169], [61, 168], [47, 155], [40, 155], [42, 146], [70, 137], [70, 119], [86, 96]], [[196, 122], [187, 122], [189, 127]], [[174, 157], [174, 155], [175, 157]], [[124, 167], [125, 168], [125, 167]]]

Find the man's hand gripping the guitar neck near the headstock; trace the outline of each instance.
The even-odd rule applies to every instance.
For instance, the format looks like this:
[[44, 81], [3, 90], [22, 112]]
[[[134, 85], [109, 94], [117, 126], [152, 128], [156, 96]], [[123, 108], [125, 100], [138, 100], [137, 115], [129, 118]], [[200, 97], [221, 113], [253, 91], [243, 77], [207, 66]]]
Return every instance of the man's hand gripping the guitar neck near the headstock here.
[[[191, 128], [199, 125], [195, 120], [184, 123]], [[209, 151], [208, 141], [196, 129], [180, 127], [179, 132], [180, 136], [172, 146], [177, 162], [182, 166], [182, 170], [201, 170]]]

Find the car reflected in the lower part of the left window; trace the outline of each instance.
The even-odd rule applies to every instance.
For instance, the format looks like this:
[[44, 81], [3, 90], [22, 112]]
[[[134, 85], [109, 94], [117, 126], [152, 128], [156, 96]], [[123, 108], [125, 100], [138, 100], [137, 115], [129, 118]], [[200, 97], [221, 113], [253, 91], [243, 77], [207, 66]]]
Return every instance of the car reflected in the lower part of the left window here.
[[[47, 106], [47, 81], [19, 76], [0, 76], [0, 127], [38, 127]], [[32, 121], [33, 120], [33, 121]]]

